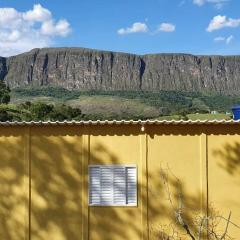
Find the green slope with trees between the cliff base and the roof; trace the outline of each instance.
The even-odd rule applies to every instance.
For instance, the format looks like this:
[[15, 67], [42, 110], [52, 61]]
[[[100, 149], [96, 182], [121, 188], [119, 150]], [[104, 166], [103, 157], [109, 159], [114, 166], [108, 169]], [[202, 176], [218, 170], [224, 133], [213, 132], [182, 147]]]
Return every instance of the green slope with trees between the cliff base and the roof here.
[[[11, 100], [11, 101], [10, 101]], [[240, 97], [196, 92], [10, 89], [0, 81], [0, 121], [230, 119]]]

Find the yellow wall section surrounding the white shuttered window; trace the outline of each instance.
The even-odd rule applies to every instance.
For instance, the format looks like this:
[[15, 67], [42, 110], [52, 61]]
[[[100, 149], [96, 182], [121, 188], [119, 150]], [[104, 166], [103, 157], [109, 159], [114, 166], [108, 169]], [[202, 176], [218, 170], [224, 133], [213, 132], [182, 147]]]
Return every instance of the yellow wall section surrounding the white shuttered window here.
[[[91, 207], [89, 209], [89, 239], [143, 239], [146, 199], [143, 184], [146, 178], [145, 138], [139, 127], [102, 127], [91, 129], [89, 164], [134, 164], [138, 169], [137, 207]], [[146, 197], [145, 197], [146, 198]]]

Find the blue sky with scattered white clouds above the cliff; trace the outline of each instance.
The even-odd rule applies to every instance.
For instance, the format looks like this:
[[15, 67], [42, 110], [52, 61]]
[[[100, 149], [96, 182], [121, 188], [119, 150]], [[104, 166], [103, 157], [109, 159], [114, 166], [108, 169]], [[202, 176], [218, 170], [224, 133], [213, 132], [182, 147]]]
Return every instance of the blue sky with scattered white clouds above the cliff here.
[[0, 0], [0, 56], [64, 46], [240, 54], [240, 0]]

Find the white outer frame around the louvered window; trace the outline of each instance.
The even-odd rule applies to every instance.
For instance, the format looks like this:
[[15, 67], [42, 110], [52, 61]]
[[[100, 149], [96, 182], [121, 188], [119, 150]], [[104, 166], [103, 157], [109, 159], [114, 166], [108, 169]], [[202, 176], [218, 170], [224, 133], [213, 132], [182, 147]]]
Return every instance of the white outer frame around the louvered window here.
[[[117, 167], [123, 167], [123, 168], [135, 168], [136, 170], [136, 202], [134, 204], [92, 204], [90, 203], [90, 168], [93, 167], [109, 167], [109, 168], [117, 168]], [[126, 176], [125, 176], [126, 177]], [[127, 183], [127, 182], [126, 182]], [[126, 196], [127, 196], [127, 192], [126, 192]], [[127, 197], [126, 197], [127, 198]], [[138, 168], [137, 165], [135, 164], [116, 164], [116, 165], [89, 165], [88, 166], [88, 205], [91, 207], [137, 207], [138, 206]]]

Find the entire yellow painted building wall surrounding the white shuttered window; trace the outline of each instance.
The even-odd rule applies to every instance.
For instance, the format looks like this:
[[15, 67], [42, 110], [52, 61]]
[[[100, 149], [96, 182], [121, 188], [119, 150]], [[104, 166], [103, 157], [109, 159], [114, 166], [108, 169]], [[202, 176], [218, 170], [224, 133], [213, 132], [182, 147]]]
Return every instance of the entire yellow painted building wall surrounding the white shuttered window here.
[[[0, 239], [155, 240], [179, 202], [240, 225], [239, 149], [234, 125], [0, 127]], [[136, 164], [137, 207], [88, 207], [91, 164]]]

